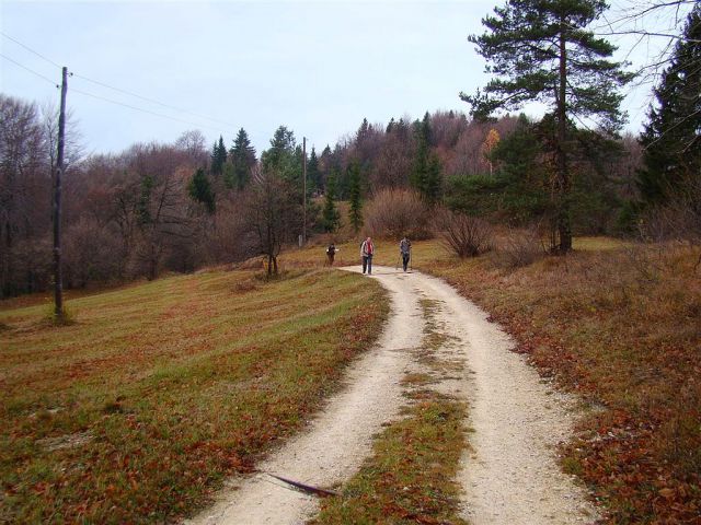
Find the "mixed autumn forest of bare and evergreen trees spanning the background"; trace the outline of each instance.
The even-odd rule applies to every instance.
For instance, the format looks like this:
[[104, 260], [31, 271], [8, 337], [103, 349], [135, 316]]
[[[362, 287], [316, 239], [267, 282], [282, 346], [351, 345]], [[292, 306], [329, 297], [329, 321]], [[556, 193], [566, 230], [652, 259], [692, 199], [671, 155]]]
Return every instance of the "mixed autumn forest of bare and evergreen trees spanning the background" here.
[[[499, 46], [515, 35], [525, 38], [517, 31], [520, 15], [498, 14], [510, 30], [495, 25], [504, 31], [473, 38], [487, 60], [499, 52], [499, 60], [508, 60]], [[630, 78], [616, 72], [618, 65], [599, 60], [598, 69], [573, 68], [565, 106], [550, 89], [558, 79], [543, 83], [528, 56], [512, 57], [520, 65], [517, 83], [502, 81], [482, 94], [462, 95], [470, 114], [438, 110], [381, 124], [364, 119], [333, 147], [306, 152], [307, 159], [286, 126], [260, 154], [240, 129], [214, 145], [193, 130], [174, 143], [139, 143], [118, 154], [88, 156], [69, 126], [65, 285], [154, 279], [163, 271], [188, 272], [260, 255], [273, 268], [281, 247], [297, 243], [302, 217], [312, 237], [340, 235], [341, 226], [354, 234], [428, 236], [438, 223], [445, 225], [436, 219], [445, 219], [448, 210], [451, 220], [480, 218], [537, 231], [550, 240], [544, 248], [552, 253], [572, 248], [568, 235], [697, 238], [700, 16], [696, 5], [655, 88], [640, 137], [620, 135], [620, 96], [612, 84]], [[497, 36], [505, 39], [496, 42]], [[589, 48], [572, 59], [581, 59], [577, 63], [597, 52], [610, 55], [601, 42], [579, 40]], [[530, 60], [530, 73], [524, 60]], [[528, 74], [532, 85], [525, 85]], [[612, 85], [607, 96], [596, 98], [604, 85], [591, 83], [596, 74]], [[562, 93], [567, 85], [563, 81]], [[495, 109], [509, 109], [494, 98], [508, 95], [513, 103], [509, 89], [520, 90], [524, 98], [552, 91], [552, 110], [540, 119], [518, 112], [493, 117]], [[577, 112], [606, 118], [583, 125]], [[50, 285], [56, 121], [51, 108], [0, 95], [1, 298]], [[350, 202], [347, 219], [338, 213], [340, 200]]]

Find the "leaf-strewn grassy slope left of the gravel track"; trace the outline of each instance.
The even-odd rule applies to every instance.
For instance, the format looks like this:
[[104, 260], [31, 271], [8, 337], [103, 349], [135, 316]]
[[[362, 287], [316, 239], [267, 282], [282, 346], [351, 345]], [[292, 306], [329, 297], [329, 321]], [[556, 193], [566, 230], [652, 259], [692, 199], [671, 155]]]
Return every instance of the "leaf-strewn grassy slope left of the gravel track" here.
[[[162, 523], [300, 429], [387, 314], [374, 281], [166, 278], [0, 311], [0, 522]], [[24, 304], [32, 301], [25, 300]]]

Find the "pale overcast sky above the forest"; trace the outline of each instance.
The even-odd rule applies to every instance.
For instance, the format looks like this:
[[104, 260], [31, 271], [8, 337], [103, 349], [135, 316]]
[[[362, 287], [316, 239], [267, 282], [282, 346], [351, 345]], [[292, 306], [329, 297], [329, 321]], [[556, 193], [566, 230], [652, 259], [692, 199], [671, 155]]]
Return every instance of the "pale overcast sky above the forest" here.
[[[481, 19], [502, 3], [0, 0], [0, 91], [57, 102], [47, 79], [58, 83], [60, 69], [50, 62], [67, 66], [88, 152], [171, 142], [188, 129], [231, 145], [243, 127], [260, 153], [279, 125], [321, 150], [364, 117], [467, 110], [458, 93], [486, 82], [467, 37], [483, 33]], [[644, 106], [642, 92], [627, 101], [632, 130]]]

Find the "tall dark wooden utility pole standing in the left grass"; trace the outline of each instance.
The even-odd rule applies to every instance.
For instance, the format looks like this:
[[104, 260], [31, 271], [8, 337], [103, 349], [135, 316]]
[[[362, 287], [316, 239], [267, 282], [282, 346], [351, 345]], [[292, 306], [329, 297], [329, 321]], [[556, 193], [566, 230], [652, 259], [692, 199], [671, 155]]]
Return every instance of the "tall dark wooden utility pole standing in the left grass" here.
[[68, 68], [64, 67], [61, 82], [61, 108], [58, 115], [58, 154], [54, 174], [54, 303], [57, 320], [64, 319], [64, 279], [61, 276], [61, 176], [64, 175], [64, 145], [66, 132], [66, 92]]

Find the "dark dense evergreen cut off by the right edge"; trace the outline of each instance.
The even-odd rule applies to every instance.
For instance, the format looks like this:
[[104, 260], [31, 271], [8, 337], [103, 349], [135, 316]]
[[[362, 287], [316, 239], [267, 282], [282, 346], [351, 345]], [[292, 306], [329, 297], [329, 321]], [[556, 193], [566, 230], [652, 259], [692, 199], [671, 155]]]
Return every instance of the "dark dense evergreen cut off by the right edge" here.
[[701, 176], [701, 4], [689, 13], [641, 137], [643, 199], [663, 203]]

